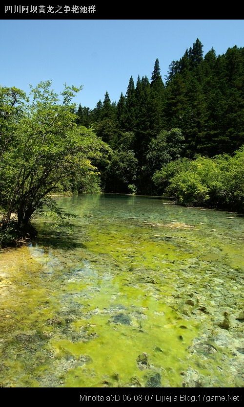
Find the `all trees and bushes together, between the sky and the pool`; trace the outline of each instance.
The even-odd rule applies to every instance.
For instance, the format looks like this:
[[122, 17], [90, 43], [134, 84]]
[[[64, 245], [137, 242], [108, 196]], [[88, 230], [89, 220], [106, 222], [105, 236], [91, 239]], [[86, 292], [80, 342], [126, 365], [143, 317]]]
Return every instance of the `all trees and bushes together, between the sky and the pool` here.
[[[36, 210], [65, 214], [53, 191], [169, 195], [181, 204], [244, 211], [244, 48], [203, 57], [199, 41], [151, 80], [106, 91], [90, 110], [65, 87], [41, 83], [30, 99], [0, 88], [0, 240], [25, 236]], [[13, 218], [16, 214], [16, 219]], [[66, 214], [67, 215], [67, 214]]]

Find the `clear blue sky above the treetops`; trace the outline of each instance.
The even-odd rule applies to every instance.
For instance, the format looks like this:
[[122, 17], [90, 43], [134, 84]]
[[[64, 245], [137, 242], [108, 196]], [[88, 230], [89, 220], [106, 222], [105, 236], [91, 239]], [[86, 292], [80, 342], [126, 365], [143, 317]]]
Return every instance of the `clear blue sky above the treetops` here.
[[156, 58], [164, 80], [196, 38], [223, 54], [244, 46], [244, 20], [0, 20], [0, 85], [83, 85], [76, 101], [94, 108], [106, 90], [118, 101], [131, 75], [150, 79]]

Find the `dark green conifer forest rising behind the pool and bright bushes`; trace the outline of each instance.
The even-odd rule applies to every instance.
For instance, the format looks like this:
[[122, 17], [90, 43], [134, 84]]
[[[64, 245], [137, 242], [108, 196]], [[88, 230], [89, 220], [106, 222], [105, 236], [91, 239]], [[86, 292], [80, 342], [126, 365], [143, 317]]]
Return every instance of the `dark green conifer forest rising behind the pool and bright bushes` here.
[[112, 149], [96, 163], [102, 189], [160, 194], [165, 182], [155, 174], [171, 161], [233, 155], [244, 144], [243, 79], [244, 48], [219, 56], [212, 48], [203, 57], [197, 39], [170, 64], [165, 83], [156, 59], [151, 79], [131, 77], [118, 103], [106, 91], [93, 110], [80, 105], [77, 123]]

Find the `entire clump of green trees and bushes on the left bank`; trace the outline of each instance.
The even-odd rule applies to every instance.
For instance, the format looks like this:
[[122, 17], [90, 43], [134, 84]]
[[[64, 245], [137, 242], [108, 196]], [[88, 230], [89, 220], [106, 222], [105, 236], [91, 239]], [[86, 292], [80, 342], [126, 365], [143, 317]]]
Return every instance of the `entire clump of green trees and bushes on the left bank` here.
[[62, 101], [49, 81], [31, 90], [30, 100], [16, 88], [0, 88], [0, 240], [35, 233], [30, 221], [44, 210], [65, 221], [48, 196], [55, 190], [98, 187], [92, 160], [107, 146], [91, 130], [75, 123], [72, 97], [65, 87]]

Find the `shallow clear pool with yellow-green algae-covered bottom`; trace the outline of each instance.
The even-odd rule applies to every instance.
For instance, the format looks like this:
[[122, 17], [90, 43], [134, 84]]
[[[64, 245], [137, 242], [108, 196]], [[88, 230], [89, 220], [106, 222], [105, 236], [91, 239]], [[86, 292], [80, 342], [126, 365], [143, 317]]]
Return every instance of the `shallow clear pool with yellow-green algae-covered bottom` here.
[[0, 385], [243, 386], [244, 218], [61, 198], [74, 233], [0, 251]]

